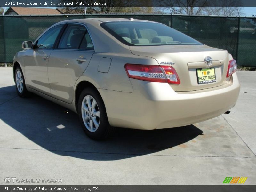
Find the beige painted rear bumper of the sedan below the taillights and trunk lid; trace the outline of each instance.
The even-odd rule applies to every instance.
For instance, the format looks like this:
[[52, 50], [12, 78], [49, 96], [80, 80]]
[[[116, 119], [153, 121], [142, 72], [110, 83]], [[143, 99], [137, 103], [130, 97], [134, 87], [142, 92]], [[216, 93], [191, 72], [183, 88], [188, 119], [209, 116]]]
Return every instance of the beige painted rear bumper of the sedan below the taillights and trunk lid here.
[[167, 83], [130, 80], [132, 93], [98, 89], [112, 126], [152, 130], [198, 123], [234, 107], [240, 91], [236, 73], [228, 84], [182, 93]]

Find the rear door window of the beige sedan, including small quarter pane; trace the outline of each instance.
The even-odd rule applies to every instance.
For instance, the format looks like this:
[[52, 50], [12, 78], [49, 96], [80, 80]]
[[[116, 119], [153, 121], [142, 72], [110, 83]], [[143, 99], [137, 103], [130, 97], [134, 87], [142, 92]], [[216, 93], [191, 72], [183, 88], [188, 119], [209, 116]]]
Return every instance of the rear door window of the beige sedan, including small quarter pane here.
[[94, 50], [92, 40], [83, 25], [68, 24], [63, 33], [58, 49]]

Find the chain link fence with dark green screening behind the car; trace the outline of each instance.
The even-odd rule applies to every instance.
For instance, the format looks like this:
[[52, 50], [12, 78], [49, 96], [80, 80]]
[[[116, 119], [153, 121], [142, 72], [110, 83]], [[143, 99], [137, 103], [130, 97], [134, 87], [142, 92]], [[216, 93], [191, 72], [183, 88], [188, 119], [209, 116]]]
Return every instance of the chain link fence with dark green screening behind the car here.
[[0, 63], [12, 63], [15, 53], [22, 50], [23, 41], [34, 41], [54, 23], [100, 17], [132, 17], [160, 22], [206, 45], [228, 50], [239, 66], [256, 66], [256, 18], [167, 14], [0, 16]]

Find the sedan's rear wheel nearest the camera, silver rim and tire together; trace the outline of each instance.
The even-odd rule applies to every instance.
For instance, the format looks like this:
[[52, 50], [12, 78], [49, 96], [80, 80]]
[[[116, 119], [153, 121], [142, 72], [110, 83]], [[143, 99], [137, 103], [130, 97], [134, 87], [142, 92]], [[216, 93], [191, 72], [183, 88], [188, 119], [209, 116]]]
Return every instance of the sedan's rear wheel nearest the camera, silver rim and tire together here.
[[78, 116], [84, 132], [94, 140], [107, 138], [113, 130], [108, 123], [104, 102], [92, 88], [82, 91], [78, 101]]

